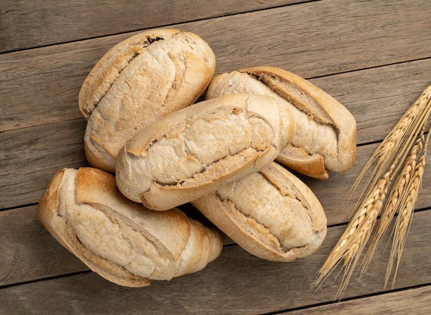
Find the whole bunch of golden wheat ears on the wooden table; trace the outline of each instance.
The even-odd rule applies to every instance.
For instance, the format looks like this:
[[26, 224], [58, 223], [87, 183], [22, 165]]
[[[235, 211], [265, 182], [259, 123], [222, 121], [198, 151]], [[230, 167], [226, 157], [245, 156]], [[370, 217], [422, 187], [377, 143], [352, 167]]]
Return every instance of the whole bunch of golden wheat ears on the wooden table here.
[[[359, 256], [361, 256], [361, 252], [366, 247], [366, 243], [368, 243], [368, 239], [376, 225], [377, 216], [379, 216], [383, 207], [386, 192], [396, 174], [399, 174], [399, 176], [395, 181], [395, 188], [390, 192], [390, 200], [384, 207], [381, 219], [383, 223], [381, 223], [380, 227], [377, 227], [378, 232], [373, 234], [375, 235], [372, 237], [374, 241], [372, 241], [371, 248], [365, 255], [362, 265], [364, 272], [375, 253], [377, 243], [379, 243], [381, 236], [387, 230], [388, 222], [391, 221], [395, 212], [402, 208], [403, 210], [399, 214], [400, 222], [396, 225], [396, 229], [399, 230], [395, 234], [394, 247], [396, 248], [392, 250], [393, 254], [391, 254], [392, 258], [386, 278], [388, 278], [396, 259], [398, 267], [412, 209], [414, 210], [414, 202], [417, 199], [417, 192], [421, 183], [423, 165], [425, 164], [425, 154], [421, 156], [419, 163], [416, 163], [417, 152], [420, 150], [416, 146], [420, 146], [419, 142], [417, 142], [417, 137], [421, 132], [423, 133], [423, 127], [428, 121], [430, 113], [431, 85], [423, 90], [417, 101], [408, 108], [391, 132], [383, 139], [377, 150], [368, 159], [355, 183], [350, 187], [341, 206], [346, 205], [353, 192], [359, 187], [359, 183], [368, 174], [368, 179], [361, 191], [359, 200], [353, 208], [346, 230], [318, 270], [317, 278], [312, 284], [312, 288], [320, 287], [329, 274], [343, 262], [344, 276], [337, 292], [337, 296], [341, 298], [359, 261]], [[428, 134], [427, 143], [429, 136], [430, 134]], [[404, 163], [405, 161], [406, 163]], [[399, 172], [402, 165], [404, 165], [403, 170]], [[401, 217], [403, 217], [403, 220], [401, 220]]]

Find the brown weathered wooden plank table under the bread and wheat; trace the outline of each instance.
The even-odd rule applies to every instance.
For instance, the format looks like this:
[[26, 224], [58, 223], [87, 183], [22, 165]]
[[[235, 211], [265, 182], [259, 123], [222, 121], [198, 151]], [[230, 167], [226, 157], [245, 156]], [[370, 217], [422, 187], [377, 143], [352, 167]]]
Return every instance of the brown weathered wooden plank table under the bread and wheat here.
[[[0, 5], [0, 314], [431, 313], [430, 167], [395, 288], [384, 287], [385, 243], [341, 301], [334, 302], [336, 274], [310, 289], [348, 222], [353, 203], [340, 209], [348, 187], [431, 83], [431, 1], [103, 2]], [[37, 203], [54, 172], [88, 165], [78, 110], [83, 80], [109, 48], [149, 28], [199, 34], [215, 52], [216, 73], [283, 68], [353, 113], [353, 168], [328, 181], [304, 179], [328, 218], [316, 254], [271, 263], [225, 237], [221, 256], [201, 272], [136, 289], [88, 270], [41, 225]]]

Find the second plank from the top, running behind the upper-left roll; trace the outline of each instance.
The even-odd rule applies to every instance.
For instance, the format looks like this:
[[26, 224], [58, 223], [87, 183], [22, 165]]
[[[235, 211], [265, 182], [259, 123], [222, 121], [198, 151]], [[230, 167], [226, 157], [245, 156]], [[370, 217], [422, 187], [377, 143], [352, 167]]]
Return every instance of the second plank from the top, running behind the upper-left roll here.
[[[208, 41], [217, 58], [216, 72], [273, 65], [313, 78], [431, 57], [430, 12], [428, 1], [399, 0], [387, 6], [386, 1], [333, 0], [176, 26]], [[0, 131], [78, 118], [78, 90], [86, 75], [109, 48], [132, 34], [1, 55], [0, 99], [5, 106]], [[427, 71], [392, 73], [390, 78], [418, 78]], [[408, 88], [398, 94], [411, 94]], [[367, 100], [361, 99], [362, 104]]]

